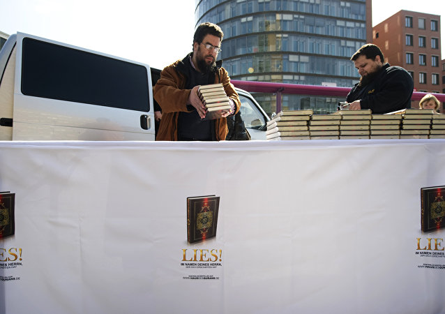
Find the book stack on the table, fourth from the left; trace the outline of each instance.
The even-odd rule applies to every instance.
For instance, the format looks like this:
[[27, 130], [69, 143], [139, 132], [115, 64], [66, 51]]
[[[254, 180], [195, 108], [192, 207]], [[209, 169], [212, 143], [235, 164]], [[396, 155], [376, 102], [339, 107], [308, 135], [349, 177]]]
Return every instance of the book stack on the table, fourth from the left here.
[[372, 114], [370, 138], [399, 139], [402, 114]]

